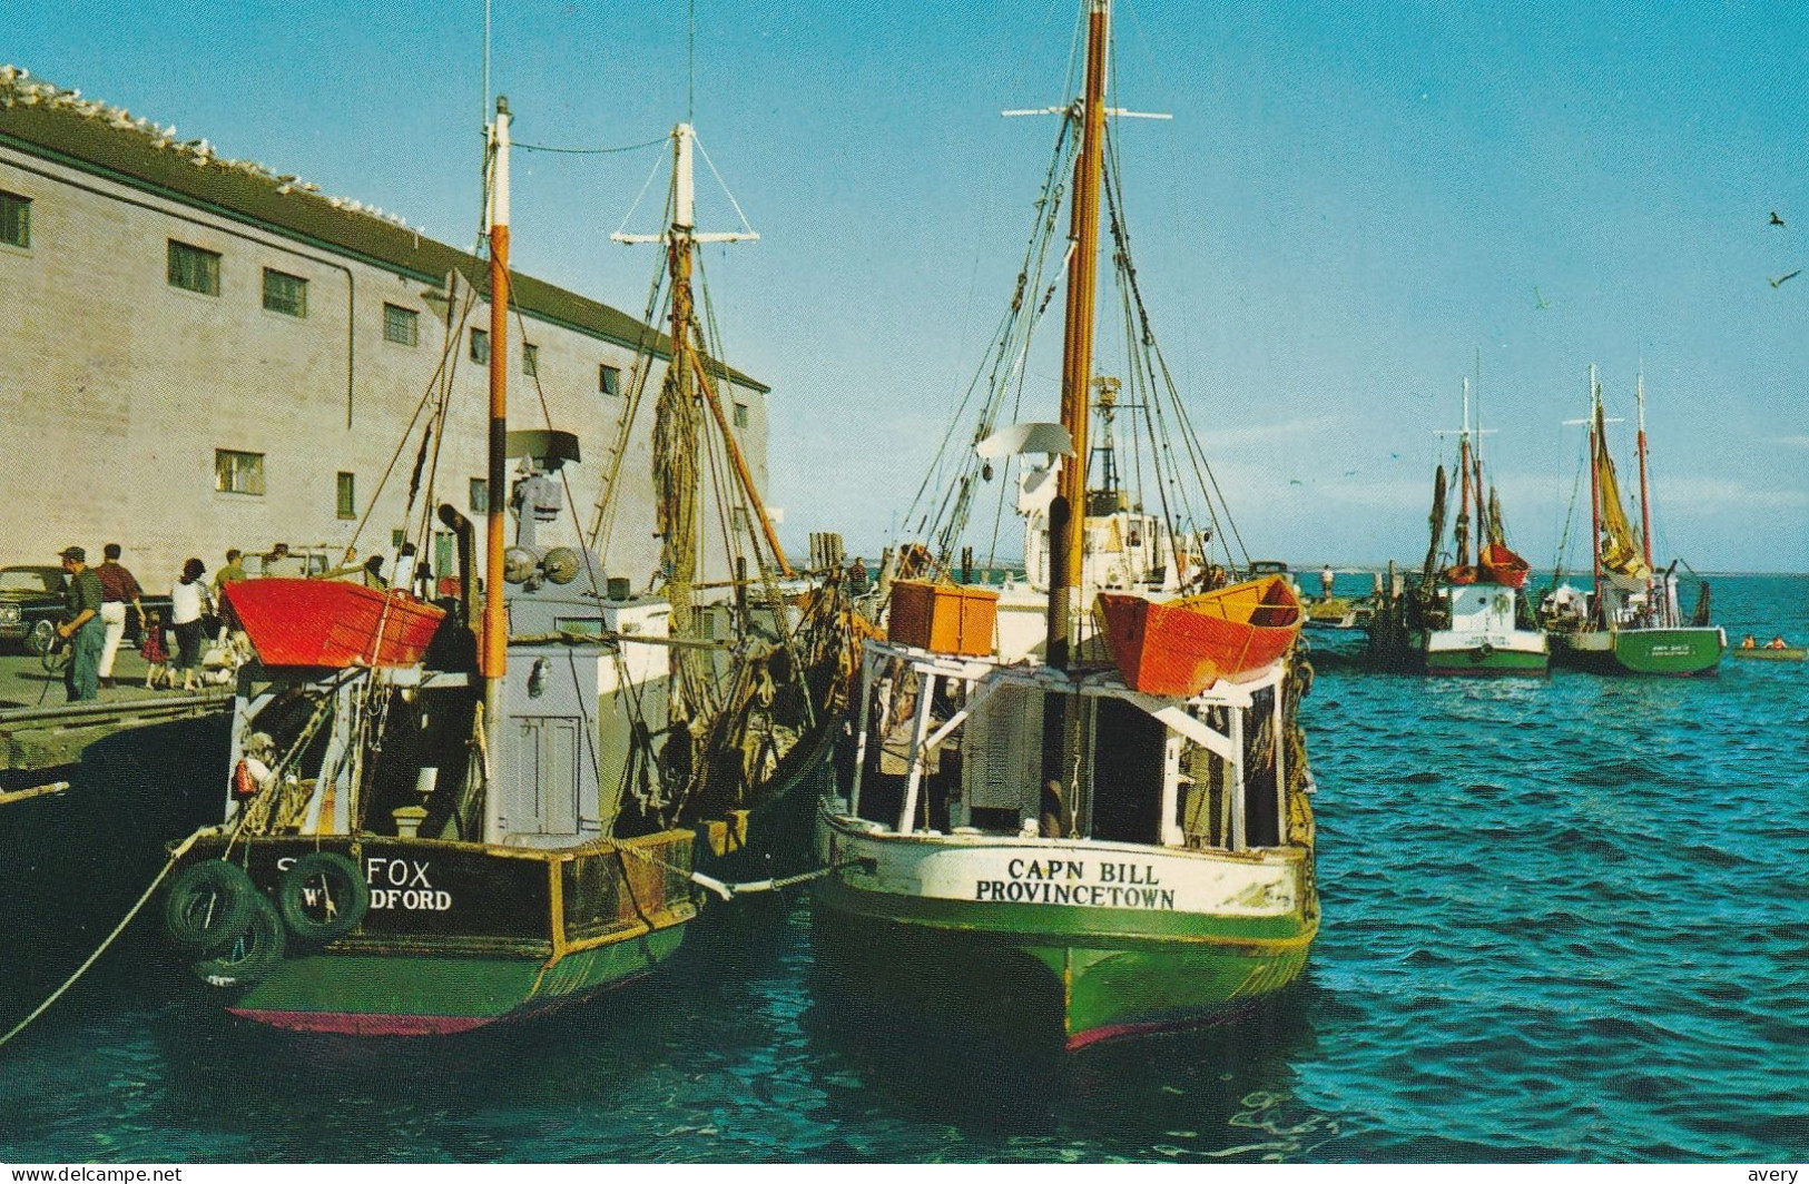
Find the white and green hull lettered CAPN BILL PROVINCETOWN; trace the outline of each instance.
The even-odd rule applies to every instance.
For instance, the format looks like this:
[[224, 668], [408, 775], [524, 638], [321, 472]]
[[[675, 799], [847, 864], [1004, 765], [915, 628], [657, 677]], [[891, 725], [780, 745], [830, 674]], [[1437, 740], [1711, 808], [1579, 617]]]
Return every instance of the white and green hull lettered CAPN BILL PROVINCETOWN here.
[[816, 886], [825, 954], [863, 992], [1067, 1048], [1281, 991], [1319, 926], [1301, 848], [874, 835], [832, 815], [819, 842], [843, 868]]

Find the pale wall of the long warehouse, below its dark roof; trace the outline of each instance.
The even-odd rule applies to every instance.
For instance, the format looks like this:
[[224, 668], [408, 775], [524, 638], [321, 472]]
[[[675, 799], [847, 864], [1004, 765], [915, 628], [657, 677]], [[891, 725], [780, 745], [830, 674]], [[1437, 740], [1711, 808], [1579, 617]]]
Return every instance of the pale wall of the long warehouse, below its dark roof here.
[[[420, 427], [398, 439], [434, 381], [447, 304], [434, 287], [331, 248], [147, 193], [0, 146], [0, 190], [31, 199], [31, 246], [0, 244], [0, 564], [54, 562], [80, 544], [98, 560], [119, 542], [147, 587], [166, 587], [195, 555], [213, 571], [224, 550], [273, 542], [387, 551], [402, 526]], [[168, 240], [221, 255], [221, 293], [172, 287]], [[262, 307], [262, 269], [308, 280], [308, 315]], [[465, 304], [459, 280], [454, 307]], [[384, 304], [420, 313], [414, 347], [384, 338]], [[487, 374], [469, 356], [469, 313], [452, 351], [452, 412], [438, 457], [436, 499], [470, 513], [483, 477]], [[508, 340], [510, 428], [575, 432], [584, 459], [568, 468], [575, 519], [588, 530], [608, 450], [630, 403], [628, 347], [528, 315], [539, 387], [523, 374], [523, 320]], [[622, 372], [622, 396], [599, 392], [597, 367]], [[622, 463], [622, 510], [604, 566], [646, 587], [657, 568], [651, 418], [660, 380], [637, 416]], [[545, 392], [546, 412], [541, 407]], [[765, 483], [765, 396], [725, 389], [749, 407], [738, 432]], [[725, 409], [733, 414], [733, 407]], [[215, 450], [264, 456], [264, 493], [215, 490]], [[385, 468], [394, 470], [371, 506]], [[336, 517], [336, 474], [355, 475], [358, 512]], [[425, 481], [425, 477], [423, 477]], [[572, 515], [568, 515], [572, 517]]]

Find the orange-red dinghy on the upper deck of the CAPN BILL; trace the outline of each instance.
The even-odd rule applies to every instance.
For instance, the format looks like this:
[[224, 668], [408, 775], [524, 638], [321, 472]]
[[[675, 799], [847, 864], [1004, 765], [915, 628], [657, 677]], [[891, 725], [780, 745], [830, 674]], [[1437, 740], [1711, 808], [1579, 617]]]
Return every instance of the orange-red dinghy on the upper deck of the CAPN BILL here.
[[1268, 577], [1179, 600], [1100, 593], [1105, 647], [1141, 694], [1194, 696], [1216, 681], [1250, 681], [1301, 633], [1301, 598]]

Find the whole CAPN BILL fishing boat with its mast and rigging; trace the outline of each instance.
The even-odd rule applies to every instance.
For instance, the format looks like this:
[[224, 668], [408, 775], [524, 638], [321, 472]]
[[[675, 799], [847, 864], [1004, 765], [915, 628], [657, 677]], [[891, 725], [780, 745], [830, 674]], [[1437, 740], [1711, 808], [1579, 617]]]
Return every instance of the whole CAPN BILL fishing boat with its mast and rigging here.
[[[1227, 551], [1237, 535], [1216, 530], [1225, 508], [1134, 293], [1109, 20], [1107, 0], [1084, 4], [1082, 98], [1049, 112], [1055, 161], [979, 423], [950, 432], [935, 510], [888, 550], [881, 582], [890, 582], [886, 636], [863, 649], [854, 759], [818, 821], [814, 916], [843, 1003], [1066, 1048], [1270, 996], [1319, 927], [1301, 607]], [[1102, 221], [1134, 325], [1122, 376], [1093, 351]], [[1060, 421], [999, 427], [1035, 305], [1064, 280]], [[1141, 418], [1140, 463], [1120, 461], [1116, 418]], [[1026, 578], [973, 587], [953, 557], [995, 477], [1017, 490]]]

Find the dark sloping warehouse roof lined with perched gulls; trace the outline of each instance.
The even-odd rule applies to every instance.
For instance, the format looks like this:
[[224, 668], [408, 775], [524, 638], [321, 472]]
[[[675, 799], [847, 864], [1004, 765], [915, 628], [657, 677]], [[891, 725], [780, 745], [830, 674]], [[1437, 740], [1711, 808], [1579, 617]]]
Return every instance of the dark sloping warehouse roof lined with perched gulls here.
[[[479, 291], [488, 291], [485, 260], [436, 242], [400, 219], [355, 201], [326, 197], [315, 186], [279, 177], [262, 164], [219, 157], [204, 139], [177, 141], [175, 128], [83, 99], [80, 90], [31, 81], [25, 70], [9, 65], [0, 67], [0, 145], [423, 282], [445, 282], [449, 271], [458, 271]], [[669, 340], [628, 313], [530, 275], [514, 273], [510, 278], [514, 302], [523, 313], [630, 349], [651, 347], [658, 356], [671, 356]], [[731, 369], [729, 376], [736, 385], [771, 390], [740, 371]]]

